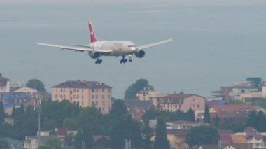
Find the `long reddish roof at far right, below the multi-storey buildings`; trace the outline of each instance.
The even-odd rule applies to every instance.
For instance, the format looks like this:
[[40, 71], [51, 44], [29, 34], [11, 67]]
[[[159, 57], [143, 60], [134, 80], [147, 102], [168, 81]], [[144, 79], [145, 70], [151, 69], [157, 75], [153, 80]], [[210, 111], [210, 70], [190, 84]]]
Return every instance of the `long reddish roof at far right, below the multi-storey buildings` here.
[[216, 112], [219, 111], [252, 111], [255, 110], [256, 106], [246, 105], [246, 104], [228, 104], [228, 105], [214, 105], [209, 108], [214, 108]]

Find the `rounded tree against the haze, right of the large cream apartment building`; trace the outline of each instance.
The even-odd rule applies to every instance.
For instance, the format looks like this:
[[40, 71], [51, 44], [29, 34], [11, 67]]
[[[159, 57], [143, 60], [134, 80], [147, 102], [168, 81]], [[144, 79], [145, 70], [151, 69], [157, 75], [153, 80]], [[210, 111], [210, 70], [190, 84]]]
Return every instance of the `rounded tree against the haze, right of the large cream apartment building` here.
[[133, 83], [127, 90], [125, 90], [125, 100], [137, 100], [137, 93], [141, 90], [144, 90], [144, 87], [148, 86], [148, 80], [146, 79], [139, 79], [136, 83]]

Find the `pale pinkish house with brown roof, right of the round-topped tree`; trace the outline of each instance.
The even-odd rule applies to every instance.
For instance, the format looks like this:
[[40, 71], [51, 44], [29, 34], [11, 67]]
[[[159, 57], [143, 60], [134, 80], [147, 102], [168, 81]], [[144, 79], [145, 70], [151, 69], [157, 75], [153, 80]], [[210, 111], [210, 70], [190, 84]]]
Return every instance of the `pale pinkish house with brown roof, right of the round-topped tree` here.
[[205, 108], [205, 97], [196, 94], [169, 94], [158, 99], [158, 109], [165, 111], [188, 111], [192, 108], [195, 115], [203, 113]]

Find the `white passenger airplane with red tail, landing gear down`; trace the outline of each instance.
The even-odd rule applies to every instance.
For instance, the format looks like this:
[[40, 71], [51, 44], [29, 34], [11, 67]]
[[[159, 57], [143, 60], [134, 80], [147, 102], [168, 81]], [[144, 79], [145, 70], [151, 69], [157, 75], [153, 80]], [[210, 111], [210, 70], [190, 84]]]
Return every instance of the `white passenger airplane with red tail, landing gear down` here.
[[120, 64], [125, 64], [127, 62], [126, 56], [129, 58], [128, 62], [132, 62], [132, 55], [135, 55], [138, 58], [145, 56], [145, 49], [151, 48], [156, 45], [161, 45], [163, 43], [168, 43], [172, 41], [172, 38], [169, 38], [165, 41], [159, 41], [156, 43], [151, 43], [147, 45], [136, 46], [132, 41], [98, 41], [92, 23], [88, 21], [89, 31], [90, 31], [90, 41], [89, 45], [54, 45], [49, 43], [37, 43], [38, 45], [45, 45], [65, 50], [73, 50], [76, 52], [88, 52], [88, 55], [92, 59], [97, 59], [95, 64], [102, 63], [102, 56], [122, 56]]

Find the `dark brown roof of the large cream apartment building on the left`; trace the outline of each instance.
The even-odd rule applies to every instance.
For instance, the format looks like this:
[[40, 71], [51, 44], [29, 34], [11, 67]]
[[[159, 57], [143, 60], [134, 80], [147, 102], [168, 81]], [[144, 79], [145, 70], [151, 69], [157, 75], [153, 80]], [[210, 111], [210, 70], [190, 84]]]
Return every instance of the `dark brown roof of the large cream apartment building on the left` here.
[[112, 88], [104, 83], [87, 80], [68, 80], [64, 83], [53, 86], [52, 88]]

